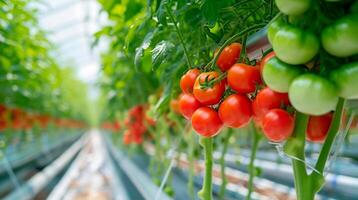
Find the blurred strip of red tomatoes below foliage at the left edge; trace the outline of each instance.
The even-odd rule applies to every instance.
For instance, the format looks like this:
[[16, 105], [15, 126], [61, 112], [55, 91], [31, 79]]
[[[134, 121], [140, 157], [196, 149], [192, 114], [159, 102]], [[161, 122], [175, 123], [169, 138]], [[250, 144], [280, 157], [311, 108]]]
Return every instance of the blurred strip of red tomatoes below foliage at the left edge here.
[[0, 131], [7, 128], [14, 130], [29, 130], [35, 125], [46, 128], [52, 123], [61, 128], [84, 128], [86, 124], [80, 120], [51, 117], [46, 114], [26, 112], [20, 108], [9, 108], [0, 105]]

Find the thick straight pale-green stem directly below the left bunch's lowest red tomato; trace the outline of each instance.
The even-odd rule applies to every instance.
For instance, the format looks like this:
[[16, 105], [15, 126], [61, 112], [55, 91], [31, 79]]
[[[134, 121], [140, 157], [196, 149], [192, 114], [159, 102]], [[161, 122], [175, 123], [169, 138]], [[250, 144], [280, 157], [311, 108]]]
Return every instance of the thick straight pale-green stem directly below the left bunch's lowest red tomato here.
[[201, 145], [205, 152], [205, 176], [198, 196], [201, 200], [212, 200], [213, 138], [201, 138]]

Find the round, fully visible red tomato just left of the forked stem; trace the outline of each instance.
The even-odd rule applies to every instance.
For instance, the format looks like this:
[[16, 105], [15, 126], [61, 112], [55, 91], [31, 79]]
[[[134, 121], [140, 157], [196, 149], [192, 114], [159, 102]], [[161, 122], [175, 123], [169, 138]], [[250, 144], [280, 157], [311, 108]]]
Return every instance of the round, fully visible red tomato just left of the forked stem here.
[[270, 110], [262, 121], [262, 129], [268, 140], [282, 142], [289, 138], [295, 128], [293, 117], [282, 109]]

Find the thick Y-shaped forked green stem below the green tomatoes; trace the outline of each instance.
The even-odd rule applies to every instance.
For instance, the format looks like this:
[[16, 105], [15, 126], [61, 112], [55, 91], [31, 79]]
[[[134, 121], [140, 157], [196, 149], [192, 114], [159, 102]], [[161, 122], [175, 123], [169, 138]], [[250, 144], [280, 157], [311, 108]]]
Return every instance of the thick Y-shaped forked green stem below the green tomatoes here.
[[315, 194], [324, 184], [323, 171], [330, 155], [334, 139], [339, 132], [344, 102], [342, 98], [338, 101], [332, 125], [322, 146], [315, 169], [310, 175], [307, 174], [305, 163], [305, 140], [309, 116], [300, 112], [296, 113], [296, 127], [293, 137], [291, 137], [285, 145], [285, 152], [294, 157], [292, 158], [292, 165], [298, 200], [313, 200]]

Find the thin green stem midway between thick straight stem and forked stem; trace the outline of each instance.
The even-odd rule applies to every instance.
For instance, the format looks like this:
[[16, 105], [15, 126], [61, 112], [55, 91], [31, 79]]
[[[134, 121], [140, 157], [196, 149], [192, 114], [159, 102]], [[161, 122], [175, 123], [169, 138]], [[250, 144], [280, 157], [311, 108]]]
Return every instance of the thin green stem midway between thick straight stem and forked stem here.
[[256, 153], [257, 153], [257, 149], [259, 147], [260, 144], [260, 140], [261, 140], [261, 134], [257, 131], [255, 125], [253, 122], [250, 123], [250, 127], [249, 127], [249, 135], [252, 135], [252, 146], [251, 146], [251, 155], [250, 155], [250, 163], [248, 166], [248, 170], [249, 170], [249, 182], [247, 184], [247, 195], [246, 195], [246, 200], [250, 200], [251, 199], [251, 194], [252, 191], [254, 189], [254, 178], [256, 175], [256, 168], [255, 168], [255, 158], [256, 158]]

